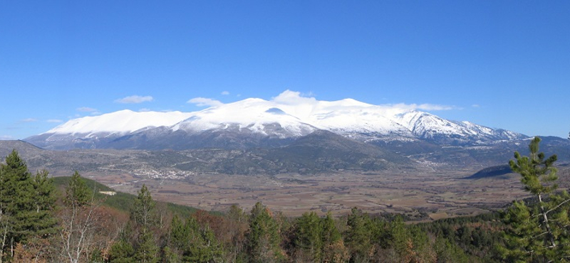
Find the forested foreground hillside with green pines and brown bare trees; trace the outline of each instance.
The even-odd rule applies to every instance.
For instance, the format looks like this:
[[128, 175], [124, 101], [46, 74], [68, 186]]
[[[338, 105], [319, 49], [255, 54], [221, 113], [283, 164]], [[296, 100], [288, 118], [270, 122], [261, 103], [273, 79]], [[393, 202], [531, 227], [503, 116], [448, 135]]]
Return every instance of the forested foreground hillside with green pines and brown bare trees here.
[[[86, 181], [35, 175], [16, 151], [0, 167], [1, 262], [564, 262], [569, 195], [556, 156], [515, 154], [532, 201], [468, 218], [407, 223], [353, 208], [287, 218], [262, 203], [208, 213]], [[536, 199], [535, 199], [536, 198]]]

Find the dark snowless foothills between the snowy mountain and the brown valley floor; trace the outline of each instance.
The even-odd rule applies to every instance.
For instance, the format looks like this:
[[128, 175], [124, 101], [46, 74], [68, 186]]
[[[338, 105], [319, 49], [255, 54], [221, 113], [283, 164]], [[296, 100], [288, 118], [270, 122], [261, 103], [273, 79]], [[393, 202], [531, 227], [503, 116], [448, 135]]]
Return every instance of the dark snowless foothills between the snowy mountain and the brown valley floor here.
[[[570, 162], [570, 141], [543, 137], [541, 151]], [[41, 149], [25, 141], [0, 141], [0, 156], [19, 151], [31, 171], [56, 176], [73, 171], [93, 175], [129, 174], [143, 178], [184, 178], [197, 173], [272, 175], [335, 171], [421, 171], [482, 169], [504, 165], [513, 152], [528, 152], [528, 140], [487, 146], [440, 146], [425, 141], [367, 144], [327, 131], [301, 136], [286, 146], [252, 149], [117, 150]]]

